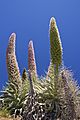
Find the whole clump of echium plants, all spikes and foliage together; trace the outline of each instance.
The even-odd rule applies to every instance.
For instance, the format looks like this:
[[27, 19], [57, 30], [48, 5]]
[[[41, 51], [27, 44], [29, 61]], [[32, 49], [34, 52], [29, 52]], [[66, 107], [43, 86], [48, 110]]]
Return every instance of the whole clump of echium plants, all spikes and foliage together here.
[[11, 34], [6, 63], [8, 83], [1, 95], [3, 110], [21, 115], [21, 120], [80, 120], [80, 88], [72, 73], [62, 67], [62, 44], [55, 19], [49, 26], [50, 66], [39, 78], [33, 42], [28, 45], [28, 71], [19, 72], [15, 55], [15, 33]]

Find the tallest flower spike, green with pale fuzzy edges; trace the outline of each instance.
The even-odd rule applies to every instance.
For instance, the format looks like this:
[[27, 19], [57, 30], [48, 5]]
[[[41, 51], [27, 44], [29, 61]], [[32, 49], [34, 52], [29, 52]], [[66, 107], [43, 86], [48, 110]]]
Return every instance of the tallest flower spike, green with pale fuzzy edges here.
[[56, 66], [56, 69], [62, 63], [62, 45], [55, 19], [50, 20], [50, 54], [51, 62]]

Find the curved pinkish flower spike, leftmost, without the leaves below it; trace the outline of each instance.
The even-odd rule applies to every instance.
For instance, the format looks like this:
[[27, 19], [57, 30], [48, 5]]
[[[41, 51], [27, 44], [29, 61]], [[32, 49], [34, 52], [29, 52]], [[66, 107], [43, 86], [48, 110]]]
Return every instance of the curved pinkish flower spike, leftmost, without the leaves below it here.
[[15, 82], [20, 83], [21, 76], [15, 55], [15, 40], [16, 40], [16, 34], [12, 33], [9, 38], [9, 44], [6, 51], [6, 64], [7, 64], [9, 80], [14, 80]]

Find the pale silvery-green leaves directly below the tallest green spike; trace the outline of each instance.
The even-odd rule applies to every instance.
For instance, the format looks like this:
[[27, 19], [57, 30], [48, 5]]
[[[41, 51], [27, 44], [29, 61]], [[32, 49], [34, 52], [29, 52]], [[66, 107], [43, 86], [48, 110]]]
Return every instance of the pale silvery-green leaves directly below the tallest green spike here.
[[60, 115], [59, 99], [56, 97], [53, 77], [43, 78], [34, 85], [34, 90], [38, 95], [38, 103], [44, 105], [45, 117], [57, 119]]

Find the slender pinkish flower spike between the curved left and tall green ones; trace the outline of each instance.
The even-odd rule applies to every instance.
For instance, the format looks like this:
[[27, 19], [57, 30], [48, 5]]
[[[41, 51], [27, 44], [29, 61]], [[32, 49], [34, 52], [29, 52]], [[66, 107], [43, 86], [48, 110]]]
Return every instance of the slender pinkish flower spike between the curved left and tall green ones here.
[[28, 45], [28, 70], [32, 76], [37, 77], [35, 54], [32, 41], [30, 41]]

